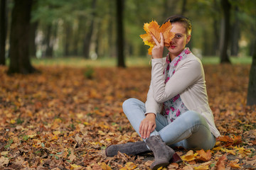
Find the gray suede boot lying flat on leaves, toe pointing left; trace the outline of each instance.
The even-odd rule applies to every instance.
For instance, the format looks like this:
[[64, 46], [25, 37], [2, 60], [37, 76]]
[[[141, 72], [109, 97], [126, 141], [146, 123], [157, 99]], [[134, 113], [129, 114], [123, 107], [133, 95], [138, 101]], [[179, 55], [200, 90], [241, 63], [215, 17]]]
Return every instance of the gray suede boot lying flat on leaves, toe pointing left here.
[[107, 157], [114, 157], [118, 152], [132, 155], [132, 154], [140, 154], [143, 152], [150, 152], [148, 147], [146, 147], [146, 143], [144, 141], [139, 142], [128, 142], [120, 145], [110, 145], [105, 150], [105, 154]]

